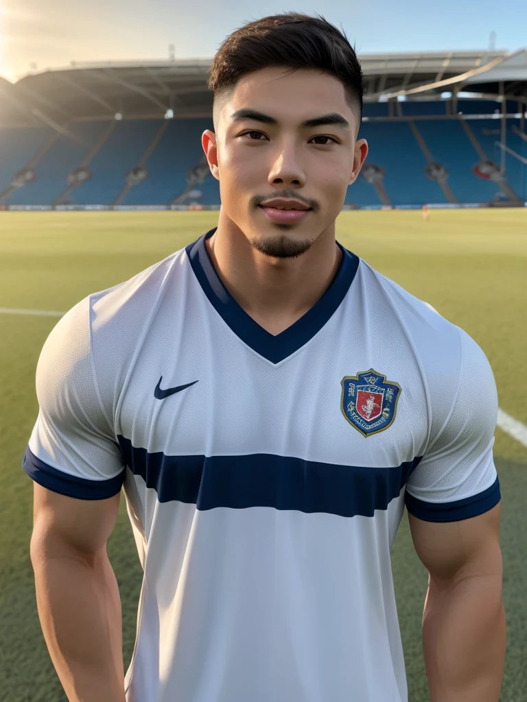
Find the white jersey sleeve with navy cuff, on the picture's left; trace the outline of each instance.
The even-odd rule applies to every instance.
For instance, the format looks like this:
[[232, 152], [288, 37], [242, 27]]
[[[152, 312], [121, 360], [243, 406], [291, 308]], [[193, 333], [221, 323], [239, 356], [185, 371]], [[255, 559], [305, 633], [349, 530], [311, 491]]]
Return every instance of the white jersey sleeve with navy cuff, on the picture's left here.
[[46, 339], [36, 389], [39, 414], [23, 470], [47, 489], [70, 497], [101, 500], [117, 494], [124, 461], [98, 391], [89, 298], [72, 307]]

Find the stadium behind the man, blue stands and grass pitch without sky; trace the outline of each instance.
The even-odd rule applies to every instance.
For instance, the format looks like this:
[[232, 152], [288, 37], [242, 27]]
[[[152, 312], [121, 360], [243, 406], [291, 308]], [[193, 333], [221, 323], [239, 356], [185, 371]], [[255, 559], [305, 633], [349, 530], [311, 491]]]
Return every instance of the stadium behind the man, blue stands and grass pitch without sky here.
[[[359, 55], [370, 151], [337, 239], [466, 330], [495, 374], [507, 658], [527, 700], [527, 48]], [[67, 702], [42, 637], [20, 461], [34, 373], [66, 310], [200, 237], [219, 184], [204, 159], [211, 60], [77, 64], [0, 79], [0, 701]], [[427, 205], [429, 220], [422, 218]], [[478, 388], [474, 388], [478, 395]], [[483, 401], [483, 398], [481, 399]], [[108, 542], [134, 654], [138, 562], [124, 500]], [[427, 702], [427, 571], [403, 518], [391, 553], [411, 702]]]

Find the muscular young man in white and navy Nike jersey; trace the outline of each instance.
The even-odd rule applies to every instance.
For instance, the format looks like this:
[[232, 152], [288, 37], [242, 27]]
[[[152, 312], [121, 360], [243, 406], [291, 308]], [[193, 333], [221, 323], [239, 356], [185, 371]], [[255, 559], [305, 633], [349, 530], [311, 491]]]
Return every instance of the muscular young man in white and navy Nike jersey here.
[[[466, 333], [335, 242], [367, 154], [356, 55], [277, 15], [226, 39], [209, 86], [218, 226], [82, 300], [41, 352], [23, 465], [60, 680], [83, 702], [406, 702], [406, 503], [431, 698], [497, 702], [495, 383]], [[125, 678], [122, 486], [145, 571]]]

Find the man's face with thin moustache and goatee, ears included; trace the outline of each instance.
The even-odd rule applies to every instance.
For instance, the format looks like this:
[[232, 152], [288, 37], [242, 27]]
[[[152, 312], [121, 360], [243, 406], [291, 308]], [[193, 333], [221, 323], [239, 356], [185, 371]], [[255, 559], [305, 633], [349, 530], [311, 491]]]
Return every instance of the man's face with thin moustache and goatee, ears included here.
[[214, 122], [202, 145], [224, 213], [268, 256], [307, 251], [337, 218], [367, 154], [344, 86], [312, 69], [261, 69], [220, 98]]

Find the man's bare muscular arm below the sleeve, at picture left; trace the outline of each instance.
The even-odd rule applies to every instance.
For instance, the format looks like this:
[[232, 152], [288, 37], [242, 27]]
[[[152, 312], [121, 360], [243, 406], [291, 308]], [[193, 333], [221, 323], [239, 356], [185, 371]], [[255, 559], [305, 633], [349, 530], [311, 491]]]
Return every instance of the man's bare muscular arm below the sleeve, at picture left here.
[[106, 553], [119, 497], [79, 500], [34, 483], [37, 607], [69, 702], [125, 699], [121, 602]]

